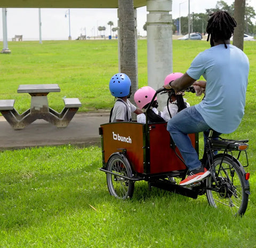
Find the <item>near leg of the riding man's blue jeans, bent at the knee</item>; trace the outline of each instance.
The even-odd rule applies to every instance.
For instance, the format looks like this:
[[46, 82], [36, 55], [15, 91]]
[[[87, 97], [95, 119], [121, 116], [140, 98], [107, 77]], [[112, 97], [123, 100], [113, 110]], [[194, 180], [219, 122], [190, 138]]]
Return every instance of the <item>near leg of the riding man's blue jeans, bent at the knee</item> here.
[[167, 131], [170, 132], [175, 145], [179, 148], [189, 171], [199, 169], [201, 162], [188, 137], [188, 133], [199, 133], [208, 129], [211, 129], [211, 127], [206, 124], [195, 106], [183, 109], [167, 123]]

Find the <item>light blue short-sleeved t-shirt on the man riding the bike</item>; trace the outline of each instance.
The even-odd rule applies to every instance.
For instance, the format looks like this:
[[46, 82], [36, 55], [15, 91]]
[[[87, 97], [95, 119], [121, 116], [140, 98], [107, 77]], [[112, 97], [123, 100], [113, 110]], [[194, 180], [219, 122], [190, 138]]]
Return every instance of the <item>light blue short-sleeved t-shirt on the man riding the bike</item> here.
[[244, 115], [249, 60], [236, 46], [213, 46], [197, 55], [187, 70], [206, 80], [205, 98], [196, 105], [205, 122], [220, 133], [234, 132]]

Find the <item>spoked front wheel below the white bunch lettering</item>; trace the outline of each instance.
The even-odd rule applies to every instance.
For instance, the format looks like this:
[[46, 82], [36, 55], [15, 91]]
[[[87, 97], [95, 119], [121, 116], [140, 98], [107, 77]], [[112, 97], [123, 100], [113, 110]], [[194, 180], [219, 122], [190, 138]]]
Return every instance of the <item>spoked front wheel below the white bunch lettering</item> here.
[[132, 170], [129, 161], [123, 154], [115, 154], [110, 157], [107, 170], [118, 175], [107, 173], [107, 185], [110, 195], [116, 198], [131, 198], [134, 191], [134, 181], [125, 179], [132, 178]]

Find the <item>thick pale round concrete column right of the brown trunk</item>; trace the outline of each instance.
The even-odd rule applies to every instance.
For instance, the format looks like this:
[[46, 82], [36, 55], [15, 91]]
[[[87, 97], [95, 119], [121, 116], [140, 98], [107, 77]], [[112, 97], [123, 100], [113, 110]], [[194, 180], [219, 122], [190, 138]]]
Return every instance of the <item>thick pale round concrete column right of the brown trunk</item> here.
[[[172, 73], [172, 0], [147, 0], [148, 85], [157, 90]], [[157, 98], [159, 110], [167, 96]]]

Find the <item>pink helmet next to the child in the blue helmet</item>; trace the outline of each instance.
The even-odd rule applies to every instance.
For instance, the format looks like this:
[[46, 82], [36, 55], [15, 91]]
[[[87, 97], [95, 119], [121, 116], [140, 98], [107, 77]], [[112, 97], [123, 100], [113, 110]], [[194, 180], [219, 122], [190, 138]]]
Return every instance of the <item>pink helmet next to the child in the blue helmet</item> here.
[[[142, 109], [144, 108], [149, 102], [151, 102], [152, 98], [154, 97], [156, 91], [151, 88], [150, 86], [143, 86], [139, 90], [134, 93], [134, 101], [137, 106]], [[155, 98], [155, 101], [157, 99]]]

